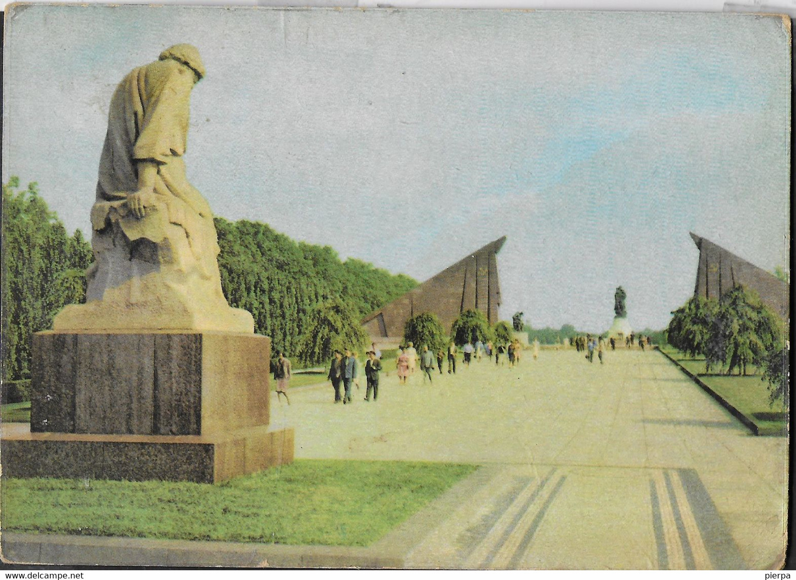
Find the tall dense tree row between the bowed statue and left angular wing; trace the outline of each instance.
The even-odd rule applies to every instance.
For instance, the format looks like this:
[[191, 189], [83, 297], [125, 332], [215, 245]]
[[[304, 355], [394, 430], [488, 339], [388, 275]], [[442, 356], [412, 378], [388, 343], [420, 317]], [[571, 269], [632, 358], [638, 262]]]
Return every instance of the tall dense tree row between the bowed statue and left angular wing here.
[[296, 242], [256, 221], [217, 217], [216, 229], [221, 287], [229, 304], [251, 312], [255, 331], [270, 336], [274, 349], [288, 356], [298, 353], [310, 312], [319, 304], [339, 299], [358, 324], [417, 285], [367, 262], [341, 261], [328, 245]]

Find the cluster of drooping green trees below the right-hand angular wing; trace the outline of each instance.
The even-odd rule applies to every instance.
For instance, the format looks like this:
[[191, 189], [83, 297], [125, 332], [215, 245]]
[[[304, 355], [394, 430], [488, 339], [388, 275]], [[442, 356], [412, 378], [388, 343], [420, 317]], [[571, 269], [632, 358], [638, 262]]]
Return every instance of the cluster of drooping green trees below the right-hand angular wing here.
[[690, 356], [704, 356], [707, 373], [762, 370], [772, 402], [782, 398], [788, 404], [784, 325], [757, 292], [735, 286], [719, 300], [694, 296], [672, 314], [670, 345]]

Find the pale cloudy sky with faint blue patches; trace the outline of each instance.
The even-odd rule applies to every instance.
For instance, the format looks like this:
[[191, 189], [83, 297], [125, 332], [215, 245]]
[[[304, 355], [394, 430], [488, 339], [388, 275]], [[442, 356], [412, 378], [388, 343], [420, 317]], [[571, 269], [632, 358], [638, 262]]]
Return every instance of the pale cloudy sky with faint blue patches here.
[[790, 37], [744, 14], [30, 6], [10, 10], [3, 174], [89, 230], [116, 84], [199, 49], [188, 177], [426, 280], [505, 235], [501, 318], [662, 328], [693, 231], [788, 265]]

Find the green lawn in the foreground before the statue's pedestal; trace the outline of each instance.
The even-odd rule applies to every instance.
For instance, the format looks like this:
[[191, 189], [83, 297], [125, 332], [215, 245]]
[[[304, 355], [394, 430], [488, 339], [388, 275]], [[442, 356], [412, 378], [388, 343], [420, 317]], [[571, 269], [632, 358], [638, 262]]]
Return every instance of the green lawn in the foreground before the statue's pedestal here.
[[3, 531], [367, 546], [477, 467], [297, 460], [223, 484], [2, 480]]

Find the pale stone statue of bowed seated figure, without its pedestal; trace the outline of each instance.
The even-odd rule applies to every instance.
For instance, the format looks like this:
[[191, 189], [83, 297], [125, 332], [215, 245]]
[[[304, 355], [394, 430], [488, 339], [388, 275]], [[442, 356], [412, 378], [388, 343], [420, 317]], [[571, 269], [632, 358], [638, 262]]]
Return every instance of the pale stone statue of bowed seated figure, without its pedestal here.
[[55, 330], [254, 331], [252, 315], [221, 292], [213, 214], [185, 177], [190, 93], [203, 76], [197, 49], [175, 45], [116, 88], [86, 304], [64, 308]]

